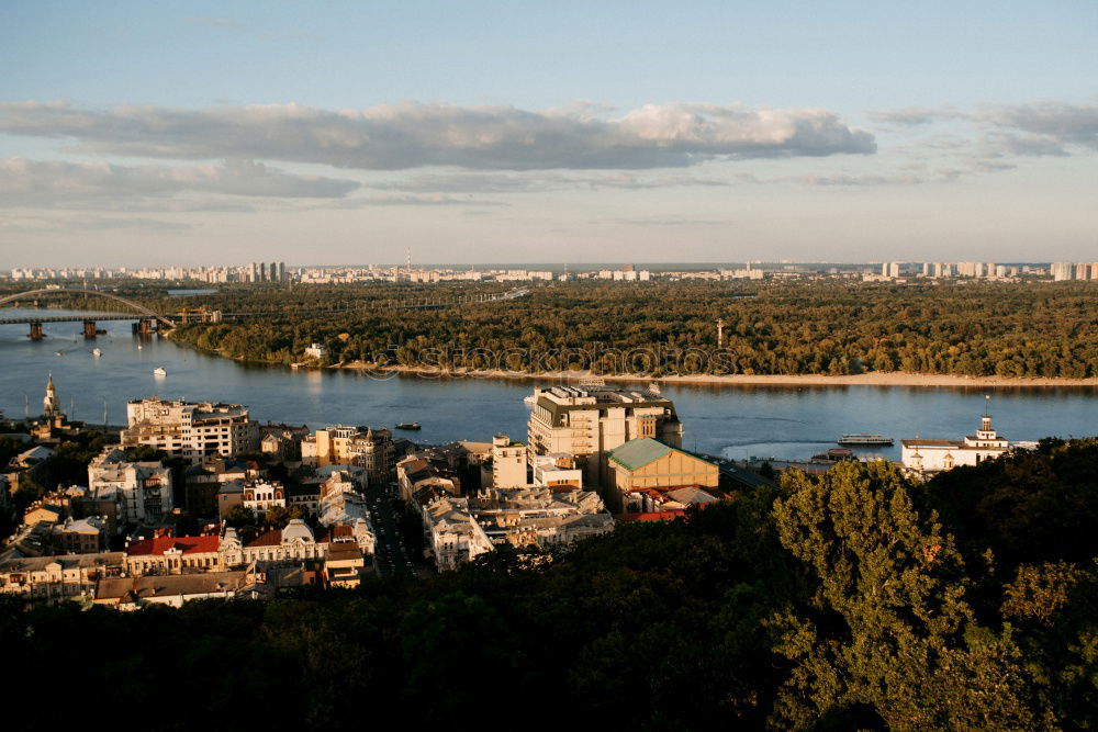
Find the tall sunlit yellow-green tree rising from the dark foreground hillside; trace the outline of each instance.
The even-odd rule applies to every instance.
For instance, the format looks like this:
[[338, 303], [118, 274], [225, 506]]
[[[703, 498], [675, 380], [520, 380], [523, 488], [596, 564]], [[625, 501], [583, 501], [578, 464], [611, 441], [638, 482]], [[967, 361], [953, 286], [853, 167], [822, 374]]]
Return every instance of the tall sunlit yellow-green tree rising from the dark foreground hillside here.
[[886, 463], [783, 481], [774, 517], [805, 563], [807, 607], [774, 619], [794, 663], [772, 722], [892, 729], [1042, 727], [1011, 630], [979, 627], [953, 539]]

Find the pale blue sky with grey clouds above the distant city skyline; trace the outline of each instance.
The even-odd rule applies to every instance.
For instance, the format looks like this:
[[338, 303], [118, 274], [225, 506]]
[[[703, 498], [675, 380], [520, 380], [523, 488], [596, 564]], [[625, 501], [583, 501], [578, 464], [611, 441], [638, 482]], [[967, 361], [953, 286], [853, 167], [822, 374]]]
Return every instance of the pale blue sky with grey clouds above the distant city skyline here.
[[1098, 2], [0, 0], [0, 269], [1098, 261]]

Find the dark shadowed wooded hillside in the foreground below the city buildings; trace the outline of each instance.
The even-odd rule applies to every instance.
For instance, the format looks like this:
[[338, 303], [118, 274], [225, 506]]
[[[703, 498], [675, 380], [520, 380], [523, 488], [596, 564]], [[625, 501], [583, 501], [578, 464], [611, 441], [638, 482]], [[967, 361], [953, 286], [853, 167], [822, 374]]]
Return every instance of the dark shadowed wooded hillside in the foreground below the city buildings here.
[[1096, 469], [1096, 440], [926, 483], [842, 463], [550, 562], [267, 604], [8, 605], [5, 694], [47, 724], [156, 730], [1094, 729]]

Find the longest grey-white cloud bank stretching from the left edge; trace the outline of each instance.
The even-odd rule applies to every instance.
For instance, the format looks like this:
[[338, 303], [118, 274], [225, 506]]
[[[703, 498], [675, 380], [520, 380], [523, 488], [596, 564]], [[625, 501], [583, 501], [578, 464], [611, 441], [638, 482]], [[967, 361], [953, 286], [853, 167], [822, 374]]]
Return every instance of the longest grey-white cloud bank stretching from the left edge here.
[[652, 104], [616, 119], [584, 111], [401, 104], [328, 111], [296, 104], [179, 110], [0, 103], [0, 132], [75, 139], [136, 157], [246, 158], [404, 170], [648, 169], [713, 159], [867, 155], [873, 135], [827, 110]]

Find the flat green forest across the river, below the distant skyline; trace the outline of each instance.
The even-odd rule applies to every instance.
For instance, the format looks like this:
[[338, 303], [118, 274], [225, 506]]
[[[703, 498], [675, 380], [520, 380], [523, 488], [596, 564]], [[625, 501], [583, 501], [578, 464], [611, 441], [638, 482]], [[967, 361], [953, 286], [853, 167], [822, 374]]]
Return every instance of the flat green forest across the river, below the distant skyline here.
[[[117, 292], [161, 313], [221, 311], [224, 323], [192, 323], [171, 337], [264, 363], [307, 361], [304, 349], [318, 342], [326, 347], [321, 365], [1098, 375], [1098, 289], [1089, 282], [580, 281], [536, 286], [511, 301], [453, 304], [505, 290], [505, 283], [219, 285], [213, 294], [168, 297], [163, 286], [126, 284]], [[80, 296], [70, 300], [81, 305]], [[440, 306], [392, 307], [410, 301]]]

